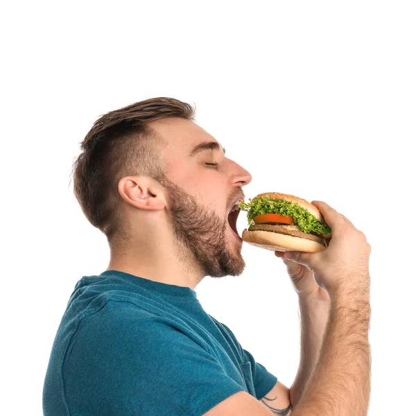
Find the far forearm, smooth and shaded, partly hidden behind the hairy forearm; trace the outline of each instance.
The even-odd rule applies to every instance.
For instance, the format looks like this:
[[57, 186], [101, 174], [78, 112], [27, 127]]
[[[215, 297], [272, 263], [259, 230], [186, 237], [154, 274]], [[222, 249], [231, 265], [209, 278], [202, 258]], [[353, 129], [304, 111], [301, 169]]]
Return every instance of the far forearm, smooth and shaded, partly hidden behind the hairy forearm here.
[[290, 388], [291, 404], [297, 405], [316, 360], [329, 315], [329, 301], [299, 298], [300, 363]]

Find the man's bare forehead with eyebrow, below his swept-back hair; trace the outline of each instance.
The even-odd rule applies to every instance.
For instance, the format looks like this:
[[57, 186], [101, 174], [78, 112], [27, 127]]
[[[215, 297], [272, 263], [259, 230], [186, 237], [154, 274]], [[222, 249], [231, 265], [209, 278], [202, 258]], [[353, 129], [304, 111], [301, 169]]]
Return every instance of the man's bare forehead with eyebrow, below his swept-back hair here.
[[[225, 153], [223, 146], [193, 121], [169, 117], [149, 123], [167, 143], [164, 159], [191, 159], [207, 148], [218, 149]], [[209, 150], [205, 150], [209, 153]]]

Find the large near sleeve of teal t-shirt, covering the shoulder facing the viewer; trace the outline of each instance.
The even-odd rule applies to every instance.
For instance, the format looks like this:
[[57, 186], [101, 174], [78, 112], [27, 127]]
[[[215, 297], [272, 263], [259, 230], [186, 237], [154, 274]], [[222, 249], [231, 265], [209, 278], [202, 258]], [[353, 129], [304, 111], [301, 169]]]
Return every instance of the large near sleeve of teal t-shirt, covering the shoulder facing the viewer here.
[[62, 379], [74, 415], [200, 416], [244, 390], [201, 340], [157, 317], [84, 318]]

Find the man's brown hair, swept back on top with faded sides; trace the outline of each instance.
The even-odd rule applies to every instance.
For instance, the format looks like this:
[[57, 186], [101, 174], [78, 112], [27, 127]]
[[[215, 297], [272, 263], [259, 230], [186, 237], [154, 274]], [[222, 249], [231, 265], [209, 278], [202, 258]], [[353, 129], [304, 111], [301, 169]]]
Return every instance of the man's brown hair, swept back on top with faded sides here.
[[119, 180], [128, 175], [165, 177], [160, 153], [166, 140], [148, 123], [166, 117], [193, 121], [195, 114], [195, 104], [149, 98], [104, 114], [80, 142], [83, 152], [72, 167], [73, 193], [87, 220], [105, 234], [110, 247], [122, 248], [130, 237], [123, 227]]

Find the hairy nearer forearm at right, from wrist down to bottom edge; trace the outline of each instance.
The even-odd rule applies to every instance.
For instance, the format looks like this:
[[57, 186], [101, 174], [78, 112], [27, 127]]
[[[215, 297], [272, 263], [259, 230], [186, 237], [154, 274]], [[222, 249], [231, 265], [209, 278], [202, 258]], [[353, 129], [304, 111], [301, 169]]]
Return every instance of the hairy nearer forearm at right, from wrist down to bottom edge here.
[[370, 399], [370, 303], [332, 300], [318, 361], [293, 416], [365, 416]]

